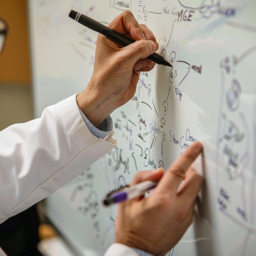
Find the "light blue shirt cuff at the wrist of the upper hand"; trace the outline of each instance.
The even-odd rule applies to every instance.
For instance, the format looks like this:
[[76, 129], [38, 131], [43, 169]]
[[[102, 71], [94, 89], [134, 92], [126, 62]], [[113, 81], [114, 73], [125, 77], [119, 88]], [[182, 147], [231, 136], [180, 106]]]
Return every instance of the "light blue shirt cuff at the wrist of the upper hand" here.
[[82, 112], [82, 110], [79, 108], [79, 111], [83, 117], [83, 120], [85, 121], [86, 126], [92, 132], [92, 134], [98, 138], [104, 139], [107, 135], [110, 134], [111, 130], [113, 129], [113, 120], [110, 116], [108, 116], [100, 125], [98, 128], [92, 125], [92, 123], [88, 120], [87, 117], [85, 117], [85, 114]]

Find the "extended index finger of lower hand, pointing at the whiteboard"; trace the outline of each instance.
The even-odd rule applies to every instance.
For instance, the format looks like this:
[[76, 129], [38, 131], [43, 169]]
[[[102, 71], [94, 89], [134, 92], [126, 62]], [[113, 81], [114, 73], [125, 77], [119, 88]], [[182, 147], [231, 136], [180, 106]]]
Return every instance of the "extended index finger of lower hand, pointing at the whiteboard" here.
[[[202, 144], [194, 142], [185, 152], [168, 168], [156, 189], [159, 193], [177, 193], [180, 182], [184, 180], [186, 171], [193, 161], [202, 152]], [[155, 190], [156, 190], [155, 189]]]

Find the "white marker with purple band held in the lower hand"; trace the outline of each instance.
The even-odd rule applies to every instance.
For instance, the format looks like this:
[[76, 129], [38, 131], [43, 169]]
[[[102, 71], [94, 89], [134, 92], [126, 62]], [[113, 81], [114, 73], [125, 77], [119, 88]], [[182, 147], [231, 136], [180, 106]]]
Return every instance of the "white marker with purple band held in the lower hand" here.
[[121, 191], [117, 191], [108, 195], [105, 198], [105, 200], [103, 200], [103, 204], [110, 205], [114, 203], [124, 202], [132, 198], [137, 198], [141, 195], [144, 195], [150, 189], [155, 188], [156, 185], [157, 185], [157, 182], [147, 180], [147, 181], [138, 183], [134, 186], [126, 187]]

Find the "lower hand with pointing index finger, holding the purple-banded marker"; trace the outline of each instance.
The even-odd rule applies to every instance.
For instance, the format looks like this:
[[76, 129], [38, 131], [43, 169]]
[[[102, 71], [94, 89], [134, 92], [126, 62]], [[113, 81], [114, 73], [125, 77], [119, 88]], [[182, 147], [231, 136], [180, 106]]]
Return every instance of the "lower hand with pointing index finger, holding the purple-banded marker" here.
[[202, 144], [197, 141], [168, 168], [164, 176], [161, 169], [135, 175], [131, 185], [144, 180], [159, 180], [159, 183], [148, 198], [119, 204], [115, 222], [116, 243], [162, 256], [180, 240], [193, 221], [195, 200], [203, 183], [202, 176], [191, 168], [201, 152]]

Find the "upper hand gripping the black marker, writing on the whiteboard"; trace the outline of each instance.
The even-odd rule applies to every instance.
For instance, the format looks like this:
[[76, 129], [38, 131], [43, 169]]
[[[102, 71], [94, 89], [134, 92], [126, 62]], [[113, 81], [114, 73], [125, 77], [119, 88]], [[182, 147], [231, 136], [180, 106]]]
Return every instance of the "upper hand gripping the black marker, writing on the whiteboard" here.
[[139, 71], [149, 71], [155, 65], [146, 57], [158, 48], [150, 29], [139, 25], [130, 11], [122, 12], [108, 27], [135, 43], [122, 47], [106, 36], [98, 35], [92, 78], [77, 96], [79, 107], [96, 127], [133, 97]]

